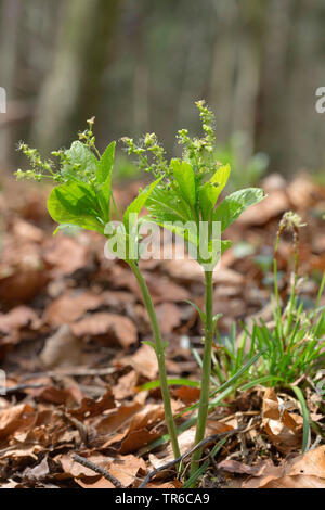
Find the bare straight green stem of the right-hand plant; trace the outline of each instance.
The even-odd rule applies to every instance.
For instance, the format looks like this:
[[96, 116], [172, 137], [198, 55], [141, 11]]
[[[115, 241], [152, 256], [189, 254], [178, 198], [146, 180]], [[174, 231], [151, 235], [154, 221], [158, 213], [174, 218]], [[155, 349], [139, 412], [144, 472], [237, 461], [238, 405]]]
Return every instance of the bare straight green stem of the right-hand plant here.
[[[194, 446], [204, 439], [206, 432], [206, 424], [209, 409], [209, 393], [210, 393], [210, 378], [211, 378], [211, 354], [213, 343], [213, 271], [206, 271], [206, 323], [205, 323], [205, 352], [203, 358], [202, 369], [202, 387], [199, 408], [196, 424], [196, 434]], [[202, 449], [194, 451], [191, 461], [191, 476], [197, 471], [199, 459], [202, 457]]]

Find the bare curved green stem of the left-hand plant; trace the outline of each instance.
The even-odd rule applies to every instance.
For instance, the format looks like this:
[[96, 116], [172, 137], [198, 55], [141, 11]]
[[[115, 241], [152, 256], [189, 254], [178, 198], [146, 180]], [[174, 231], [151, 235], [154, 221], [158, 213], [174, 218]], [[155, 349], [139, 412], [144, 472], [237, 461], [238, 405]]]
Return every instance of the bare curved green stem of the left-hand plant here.
[[156, 350], [158, 368], [159, 368], [159, 380], [160, 380], [160, 387], [161, 387], [161, 394], [162, 394], [162, 400], [164, 400], [165, 418], [166, 418], [168, 433], [169, 433], [171, 445], [172, 445], [173, 455], [174, 455], [174, 458], [177, 459], [181, 456], [181, 452], [180, 452], [180, 447], [179, 447], [179, 442], [178, 442], [177, 429], [176, 429], [172, 410], [171, 410], [170, 395], [169, 395], [168, 382], [167, 382], [167, 370], [166, 370], [166, 364], [165, 364], [165, 346], [164, 346], [162, 339], [161, 339], [158, 319], [156, 316], [153, 299], [147, 289], [145, 279], [143, 278], [138, 264], [131, 260], [128, 262], [128, 264], [136, 278], [136, 281], [139, 283], [142, 297], [144, 301], [144, 305], [148, 313], [150, 320], [152, 323], [154, 339], [155, 339], [155, 346], [156, 346], [155, 350]]

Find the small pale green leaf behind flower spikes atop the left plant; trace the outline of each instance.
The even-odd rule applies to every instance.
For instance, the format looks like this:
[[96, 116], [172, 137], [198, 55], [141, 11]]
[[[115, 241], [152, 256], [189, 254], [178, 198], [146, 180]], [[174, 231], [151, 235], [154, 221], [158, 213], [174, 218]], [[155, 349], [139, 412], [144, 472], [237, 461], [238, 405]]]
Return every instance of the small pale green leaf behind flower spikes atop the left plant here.
[[87, 180], [84, 171], [88, 170], [91, 174], [95, 175], [98, 158], [93, 152], [91, 152], [88, 146], [86, 146], [80, 141], [76, 141], [72, 144], [70, 149], [65, 151], [66, 156], [68, 157], [68, 163], [65, 163], [62, 169], [62, 174], [68, 174], [76, 179]]

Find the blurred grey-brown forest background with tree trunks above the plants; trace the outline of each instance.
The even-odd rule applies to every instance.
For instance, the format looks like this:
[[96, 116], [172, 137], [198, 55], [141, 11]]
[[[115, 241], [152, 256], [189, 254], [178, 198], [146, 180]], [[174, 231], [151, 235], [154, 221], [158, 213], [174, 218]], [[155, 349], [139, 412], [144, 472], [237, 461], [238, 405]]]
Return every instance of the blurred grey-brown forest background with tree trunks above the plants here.
[[[220, 160], [244, 182], [268, 168], [324, 173], [324, 0], [0, 0], [2, 171], [25, 140], [43, 155], [96, 116], [99, 146], [199, 129], [217, 116]], [[120, 156], [120, 178], [134, 171]]]

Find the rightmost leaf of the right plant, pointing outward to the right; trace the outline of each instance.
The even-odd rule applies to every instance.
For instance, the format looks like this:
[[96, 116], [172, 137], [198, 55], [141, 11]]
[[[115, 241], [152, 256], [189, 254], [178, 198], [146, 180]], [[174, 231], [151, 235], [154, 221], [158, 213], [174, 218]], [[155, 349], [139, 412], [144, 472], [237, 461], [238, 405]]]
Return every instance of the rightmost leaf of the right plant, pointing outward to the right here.
[[265, 197], [260, 188], [247, 188], [226, 196], [213, 214], [214, 221], [221, 221], [221, 231], [230, 227], [248, 207], [258, 204]]

